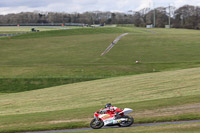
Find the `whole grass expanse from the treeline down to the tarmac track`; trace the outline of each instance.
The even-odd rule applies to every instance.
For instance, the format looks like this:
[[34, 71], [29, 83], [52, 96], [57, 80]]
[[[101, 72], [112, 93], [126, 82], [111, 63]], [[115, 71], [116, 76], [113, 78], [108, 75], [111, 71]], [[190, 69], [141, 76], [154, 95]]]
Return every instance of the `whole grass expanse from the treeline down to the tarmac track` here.
[[136, 123], [200, 119], [199, 35], [107, 27], [3, 37], [0, 132], [88, 127], [107, 102], [133, 108]]

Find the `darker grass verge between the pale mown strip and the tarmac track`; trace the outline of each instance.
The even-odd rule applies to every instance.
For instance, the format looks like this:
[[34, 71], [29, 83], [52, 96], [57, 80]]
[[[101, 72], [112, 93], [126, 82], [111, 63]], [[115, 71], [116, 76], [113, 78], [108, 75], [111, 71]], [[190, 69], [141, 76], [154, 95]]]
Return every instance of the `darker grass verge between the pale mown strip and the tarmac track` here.
[[[130, 107], [134, 109], [134, 112], [143, 112], [149, 110], [154, 111], [155, 109], [162, 109], [178, 105], [194, 104], [198, 102], [199, 95], [196, 95], [143, 101], [136, 103], [124, 103], [117, 104], [116, 106], [121, 108]], [[0, 132], [20, 132], [88, 127], [89, 122], [93, 117], [92, 115], [97, 109], [99, 109], [99, 106], [71, 110], [0, 116]], [[149, 118], [142, 117], [141, 115], [134, 116], [133, 113], [135, 123], [200, 119], [200, 113], [183, 112], [181, 114], [174, 113], [173, 115], [161, 115]]]

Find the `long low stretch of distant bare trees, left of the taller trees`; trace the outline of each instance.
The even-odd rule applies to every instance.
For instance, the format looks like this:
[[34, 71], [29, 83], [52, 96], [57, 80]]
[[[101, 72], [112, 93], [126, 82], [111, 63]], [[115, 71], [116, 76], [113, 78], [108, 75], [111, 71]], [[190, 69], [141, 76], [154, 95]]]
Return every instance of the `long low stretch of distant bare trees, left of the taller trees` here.
[[85, 24], [133, 24], [133, 15], [112, 12], [22, 12], [18, 14], [0, 15], [0, 24], [24, 23], [85, 23]]

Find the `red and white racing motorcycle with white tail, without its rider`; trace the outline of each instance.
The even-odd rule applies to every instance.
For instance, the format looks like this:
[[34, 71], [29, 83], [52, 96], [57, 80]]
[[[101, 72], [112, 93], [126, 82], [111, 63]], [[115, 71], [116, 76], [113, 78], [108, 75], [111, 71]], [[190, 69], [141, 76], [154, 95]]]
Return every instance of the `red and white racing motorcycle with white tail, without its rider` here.
[[90, 122], [90, 127], [93, 129], [100, 129], [103, 126], [119, 126], [128, 127], [134, 123], [134, 119], [127, 114], [133, 112], [132, 109], [125, 108], [119, 113], [102, 112], [100, 109], [94, 113], [94, 119]]

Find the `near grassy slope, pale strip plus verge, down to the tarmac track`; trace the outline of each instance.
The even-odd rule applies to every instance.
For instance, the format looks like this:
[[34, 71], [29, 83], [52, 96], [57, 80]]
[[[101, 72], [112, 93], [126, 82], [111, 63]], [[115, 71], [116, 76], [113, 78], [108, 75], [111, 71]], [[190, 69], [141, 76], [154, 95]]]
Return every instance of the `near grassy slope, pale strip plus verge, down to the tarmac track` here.
[[136, 123], [200, 119], [199, 72], [194, 68], [4, 94], [0, 131], [87, 127], [107, 102], [133, 108]]

